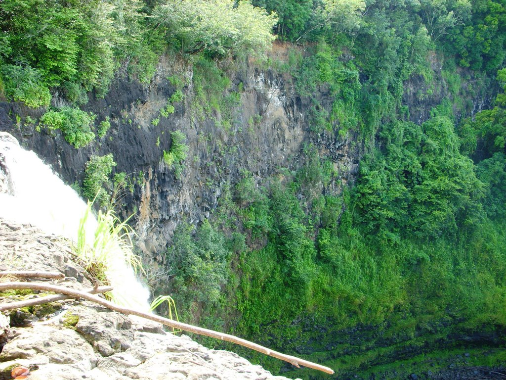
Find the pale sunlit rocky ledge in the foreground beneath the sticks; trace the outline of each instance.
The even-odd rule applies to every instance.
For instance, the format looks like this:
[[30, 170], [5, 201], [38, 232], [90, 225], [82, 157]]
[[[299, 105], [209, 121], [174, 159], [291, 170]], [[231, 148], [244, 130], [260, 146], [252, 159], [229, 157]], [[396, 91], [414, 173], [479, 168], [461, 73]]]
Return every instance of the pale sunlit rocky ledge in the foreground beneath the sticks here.
[[[0, 219], [0, 271], [59, 271], [64, 279], [47, 282], [92, 287], [68, 250], [65, 241]], [[0, 303], [31, 296], [4, 292]], [[10, 379], [16, 365], [31, 369], [28, 380], [286, 379], [234, 353], [209, 350], [188, 336], [164, 332], [161, 325], [88, 301], [58, 301], [5, 314], [11, 327], [0, 354], [0, 380]]]

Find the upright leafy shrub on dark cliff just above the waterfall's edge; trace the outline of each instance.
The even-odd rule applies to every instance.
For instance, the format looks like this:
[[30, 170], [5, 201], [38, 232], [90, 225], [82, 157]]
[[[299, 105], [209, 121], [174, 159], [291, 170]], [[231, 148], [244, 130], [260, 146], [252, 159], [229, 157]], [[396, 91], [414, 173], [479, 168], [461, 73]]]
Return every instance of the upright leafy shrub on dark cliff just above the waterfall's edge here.
[[86, 163], [85, 179], [82, 181], [82, 195], [89, 200], [97, 198], [99, 205], [104, 206], [108, 201], [105, 187], [110, 187], [109, 176], [116, 166], [112, 153], [105, 156], [95, 156]]

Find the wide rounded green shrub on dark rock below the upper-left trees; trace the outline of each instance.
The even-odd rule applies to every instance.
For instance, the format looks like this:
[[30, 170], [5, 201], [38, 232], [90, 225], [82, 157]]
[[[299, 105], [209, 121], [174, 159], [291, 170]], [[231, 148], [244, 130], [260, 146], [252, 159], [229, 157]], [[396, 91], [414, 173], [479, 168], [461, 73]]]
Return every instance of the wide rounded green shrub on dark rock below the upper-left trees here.
[[77, 149], [95, 139], [95, 133], [91, 130], [94, 119], [94, 115], [85, 111], [63, 106], [58, 110], [46, 112], [40, 118], [40, 123], [50, 131], [59, 129], [65, 140]]

